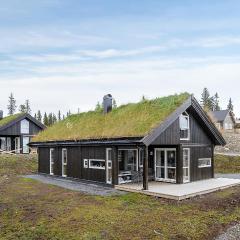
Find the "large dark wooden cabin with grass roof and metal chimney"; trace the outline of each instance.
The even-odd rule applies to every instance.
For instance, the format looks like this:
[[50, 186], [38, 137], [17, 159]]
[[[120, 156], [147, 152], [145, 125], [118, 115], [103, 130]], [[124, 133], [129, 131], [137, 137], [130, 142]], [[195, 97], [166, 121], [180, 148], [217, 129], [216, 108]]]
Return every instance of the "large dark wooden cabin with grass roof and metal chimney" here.
[[68, 117], [30, 143], [40, 173], [118, 185], [141, 181], [188, 183], [214, 177], [221, 133], [187, 94], [143, 100]]

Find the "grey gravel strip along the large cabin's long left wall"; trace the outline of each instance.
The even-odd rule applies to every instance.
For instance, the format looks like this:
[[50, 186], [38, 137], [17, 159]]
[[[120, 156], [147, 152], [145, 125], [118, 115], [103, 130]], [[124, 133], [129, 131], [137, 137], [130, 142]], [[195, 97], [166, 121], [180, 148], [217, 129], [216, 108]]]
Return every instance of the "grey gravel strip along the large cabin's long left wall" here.
[[53, 177], [53, 176], [40, 175], [40, 174], [27, 175], [24, 177], [35, 179], [42, 183], [52, 184], [52, 185], [56, 185], [56, 186], [70, 189], [73, 191], [79, 191], [79, 192], [83, 192], [91, 195], [113, 196], [113, 195], [126, 194], [126, 192], [119, 191], [108, 186], [104, 186], [103, 184], [90, 183], [90, 182], [84, 182], [84, 181], [78, 181], [78, 180], [70, 180], [70, 179], [64, 179], [61, 177]]

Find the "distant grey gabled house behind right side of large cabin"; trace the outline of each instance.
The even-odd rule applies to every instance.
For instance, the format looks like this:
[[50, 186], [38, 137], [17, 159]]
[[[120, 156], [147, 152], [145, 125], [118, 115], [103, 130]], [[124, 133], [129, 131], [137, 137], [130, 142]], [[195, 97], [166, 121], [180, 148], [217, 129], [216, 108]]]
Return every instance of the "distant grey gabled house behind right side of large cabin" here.
[[217, 128], [221, 131], [234, 131], [235, 128], [235, 118], [234, 114], [230, 110], [220, 110], [210, 112], [210, 117], [215, 123]]

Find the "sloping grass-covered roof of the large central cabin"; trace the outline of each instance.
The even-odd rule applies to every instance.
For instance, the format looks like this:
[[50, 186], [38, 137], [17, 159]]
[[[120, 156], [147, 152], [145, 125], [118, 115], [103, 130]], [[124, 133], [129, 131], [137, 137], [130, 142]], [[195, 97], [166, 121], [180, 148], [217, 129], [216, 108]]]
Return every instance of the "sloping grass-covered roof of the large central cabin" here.
[[40, 132], [33, 141], [142, 137], [161, 124], [189, 96], [182, 93], [129, 103], [105, 115], [102, 111], [74, 114]]

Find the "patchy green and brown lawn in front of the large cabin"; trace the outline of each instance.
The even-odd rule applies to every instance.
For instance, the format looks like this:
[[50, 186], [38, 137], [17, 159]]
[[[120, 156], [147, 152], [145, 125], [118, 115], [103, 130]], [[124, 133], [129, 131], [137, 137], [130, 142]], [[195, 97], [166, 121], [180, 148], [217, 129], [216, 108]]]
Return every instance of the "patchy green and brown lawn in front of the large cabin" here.
[[89, 196], [18, 175], [35, 159], [0, 155], [0, 239], [213, 239], [240, 221], [240, 188], [185, 200]]

